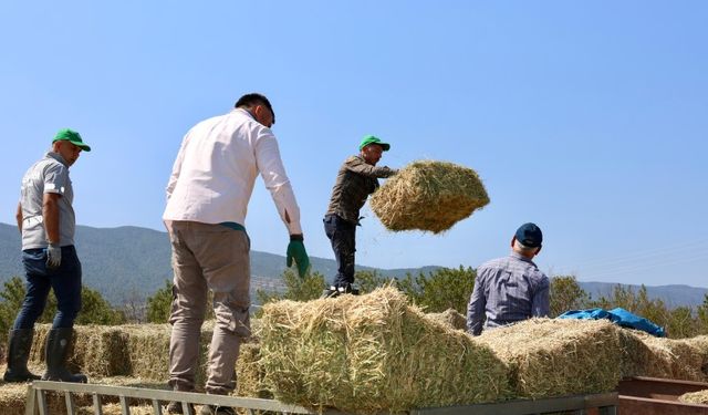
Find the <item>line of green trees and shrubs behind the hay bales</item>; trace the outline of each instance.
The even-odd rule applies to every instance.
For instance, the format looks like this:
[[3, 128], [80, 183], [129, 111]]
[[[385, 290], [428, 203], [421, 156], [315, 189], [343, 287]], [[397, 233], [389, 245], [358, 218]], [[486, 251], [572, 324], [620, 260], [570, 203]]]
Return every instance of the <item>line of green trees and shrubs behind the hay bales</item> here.
[[[376, 271], [357, 271], [356, 282], [362, 293], [367, 293], [383, 286], [393, 286], [404, 292], [413, 303], [426, 312], [444, 312], [455, 309], [461, 314], [467, 312], [467, 302], [475, 287], [476, 270], [469, 267], [440, 268], [428, 273], [408, 273], [403, 278], [386, 278]], [[282, 274], [285, 289], [282, 291], [257, 290], [254, 312], [260, 312], [259, 304], [278, 300], [308, 301], [320, 298], [325, 289], [325, 277], [320, 272], [311, 272], [300, 278], [295, 272], [285, 270]], [[7, 342], [7, 333], [14, 322], [14, 317], [24, 298], [24, 280], [13, 277], [3, 284], [0, 291], [0, 342]], [[665, 328], [669, 338], [691, 338], [708, 334], [708, 295], [702, 304], [693, 307], [669, 308], [659, 299], [650, 299], [646, 287], [638, 290], [616, 284], [608, 295], [593, 299], [585, 292], [573, 276], [555, 276], [551, 278], [551, 318], [569, 310], [601, 308], [605, 310], [621, 307], [637, 315]], [[77, 324], [125, 324], [125, 323], [166, 323], [173, 300], [173, 284], [166, 280], [163, 288], [149, 295], [143, 303], [135, 301], [122, 307], [113, 307], [96, 290], [83, 287], [82, 311], [76, 319]], [[210, 310], [210, 308], [208, 308]], [[44, 313], [39, 322], [50, 323], [56, 311], [54, 294], [50, 294]], [[211, 314], [207, 319], [212, 318]]]

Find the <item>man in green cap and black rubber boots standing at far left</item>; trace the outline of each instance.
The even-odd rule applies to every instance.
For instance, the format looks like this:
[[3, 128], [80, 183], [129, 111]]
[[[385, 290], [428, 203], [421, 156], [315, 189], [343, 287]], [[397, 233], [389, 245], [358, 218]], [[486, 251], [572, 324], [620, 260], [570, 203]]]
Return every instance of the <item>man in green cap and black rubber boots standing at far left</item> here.
[[69, 128], [61, 129], [51, 151], [22, 178], [17, 219], [22, 235], [27, 294], [10, 331], [6, 382], [40, 378], [27, 369], [27, 361], [34, 322], [44, 311], [50, 290], [56, 297], [58, 310], [46, 336], [46, 373], [42, 378], [86, 382], [86, 376], [72, 374], [66, 369], [74, 319], [81, 310], [81, 262], [74, 248], [76, 220], [69, 167], [76, 163], [82, 151], [90, 152], [91, 147], [81, 135]]

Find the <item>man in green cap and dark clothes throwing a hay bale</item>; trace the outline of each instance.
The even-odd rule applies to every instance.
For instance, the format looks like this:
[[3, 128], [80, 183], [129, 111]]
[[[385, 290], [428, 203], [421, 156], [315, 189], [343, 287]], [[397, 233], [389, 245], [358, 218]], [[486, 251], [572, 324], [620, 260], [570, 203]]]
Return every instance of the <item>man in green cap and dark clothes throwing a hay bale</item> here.
[[378, 188], [378, 178], [391, 177], [397, 173], [386, 166], [376, 167], [383, 153], [389, 148], [388, 143], [367, 135], [358, 146], [360, 154], [348, 157], [340, 167], [330, 206], [323, 219], [324, 231], [334, 250], [337, 272], [334, 283], [324, 291], [323, 297], [358, 293], [357, 289], [352, 288], [356, 226], [360, 225], [358, 211], [366, 203], [368, 195]]

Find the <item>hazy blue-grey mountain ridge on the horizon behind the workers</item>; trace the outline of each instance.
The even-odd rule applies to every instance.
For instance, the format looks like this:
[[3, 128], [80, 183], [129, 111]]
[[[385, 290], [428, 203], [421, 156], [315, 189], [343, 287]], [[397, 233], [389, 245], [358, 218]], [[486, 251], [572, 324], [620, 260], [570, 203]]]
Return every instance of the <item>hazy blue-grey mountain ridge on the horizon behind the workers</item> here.
[[[145, 298], [171, 280], [171, 250], [167, 235], [154, 229], [124, 226], [118, 228], [76, 227], [76, 246], [83, 266], [84, 284], [98, 290], [113, 304], [131, 298]], [[0, 283], [13, 276], [23, 277], [20, 255], [20, 235], [14, 226], [0, 224]], [[332, 259], [311, 257], [312, 269], [331, 279], [336, 272]], [[440, 267], [377, 269], [386, 277], [405, 277], [410, 272], [428, 273]], [[285, 258], [274, 253], [251, 251], [252, 289], [282, 287], [280, 276], [285, 270]], [[610, 295], [616, 283], [579, 281], [593, 299]], [[627, 286], [638, 291], [639, 286]], [[669, 307], [701, 304], [708, 289], [689, 286], [647, 287], [650, 298], [659, 298]]]

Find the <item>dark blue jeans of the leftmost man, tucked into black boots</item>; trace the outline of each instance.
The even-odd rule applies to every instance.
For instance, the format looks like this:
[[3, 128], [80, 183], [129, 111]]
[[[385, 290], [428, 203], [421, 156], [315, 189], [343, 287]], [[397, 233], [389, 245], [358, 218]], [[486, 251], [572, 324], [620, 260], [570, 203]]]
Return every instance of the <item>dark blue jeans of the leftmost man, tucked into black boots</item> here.
[[56, 315], [53, 329], [72, 328], [81, 310], [81, 262], [73, 246], [62, 247], [61, 266], [46, 269], [46, 249], [22, 251], [22, 263], [27, 273], [27, 294], [14, 320], [14, 330], [31, 329], [42, 315], [49, 290], [56, 297]]

